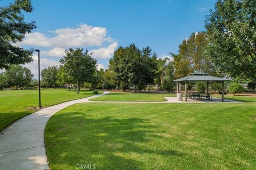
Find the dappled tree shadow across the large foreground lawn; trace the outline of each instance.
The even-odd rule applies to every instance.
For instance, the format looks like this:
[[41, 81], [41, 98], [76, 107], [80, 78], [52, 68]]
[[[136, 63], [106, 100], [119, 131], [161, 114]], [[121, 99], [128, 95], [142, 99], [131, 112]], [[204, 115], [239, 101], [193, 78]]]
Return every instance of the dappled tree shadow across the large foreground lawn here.
[[[60, 164], [73, 167], [95, 164], [97, 169], [143, 169], [146, 157], [154, 160], [161, 155], [183, 155], [176, 150], [149, 145], [152, 139], [163, 137], [147, 119], [87, 118], [89, 116], [85, 118], [81, 113], [54, 115], [56, 122], [50, 122], [53, 126], [47, 126], [45, 134], [51, 168]], [[56, 126], [57, 120], [62, 123]]]

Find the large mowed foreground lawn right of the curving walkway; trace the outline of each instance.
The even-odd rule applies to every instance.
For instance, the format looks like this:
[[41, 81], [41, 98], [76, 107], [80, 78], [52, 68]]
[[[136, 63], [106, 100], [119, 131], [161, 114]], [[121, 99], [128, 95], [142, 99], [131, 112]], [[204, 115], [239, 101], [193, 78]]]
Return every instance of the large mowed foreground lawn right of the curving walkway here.
[[69, 106], [46, 125], [50, 167], [255, 169], [256, 98], [241, 98], [250, 102]]

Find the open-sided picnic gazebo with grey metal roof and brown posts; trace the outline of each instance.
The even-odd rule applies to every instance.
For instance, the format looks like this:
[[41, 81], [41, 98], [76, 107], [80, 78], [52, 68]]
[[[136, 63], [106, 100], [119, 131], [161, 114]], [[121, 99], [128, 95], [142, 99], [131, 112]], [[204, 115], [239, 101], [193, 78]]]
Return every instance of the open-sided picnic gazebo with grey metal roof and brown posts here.
[[188, 87], [188, 82], [189, 81], [206, 81], [206, 93], [209, 94], [209, 81], [214, 81], [214, 82], [222, 82], [222, 89], [221, 89], [221, 101], [224, 101], [224, 81], [228, 81], [227, 79], [223, 78], [218, 78], [218, 77], [213, 77], [207, 73], [200, 73], [200, 72], [195, 72], [192, 74], [189, 74], [187, 77], [183, 77], [180, 79], [173, 80], [177, 84], [177, 94], [179, 92], [179, 83], [180, 82], [185, 82], [185, 101], [188, 100], [187, 96], [187, 87]]

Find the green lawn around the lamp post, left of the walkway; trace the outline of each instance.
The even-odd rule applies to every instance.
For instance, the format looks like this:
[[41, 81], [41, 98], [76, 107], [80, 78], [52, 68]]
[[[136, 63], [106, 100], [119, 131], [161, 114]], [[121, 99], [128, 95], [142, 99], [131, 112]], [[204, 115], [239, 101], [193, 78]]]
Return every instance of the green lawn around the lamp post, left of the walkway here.
[[[92, 96], [92, 91], [67, 89], [42, 89], [43, 107], [63, 103], [64, 101]], [[38, 90], [0, 90], [0, 131], [19, 118], [31, 114], [38, 107]]]

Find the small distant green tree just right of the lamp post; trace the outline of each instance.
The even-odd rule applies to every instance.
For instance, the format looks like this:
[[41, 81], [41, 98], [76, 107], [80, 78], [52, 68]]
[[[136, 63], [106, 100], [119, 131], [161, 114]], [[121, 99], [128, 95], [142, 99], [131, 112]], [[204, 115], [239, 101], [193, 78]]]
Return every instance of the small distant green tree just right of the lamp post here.
[[46, 86], [54, 87], [54, 89], [56, 89], [57, 73], [58, 73], [58, 66], [49, 66], [46, 69], [41, 71], [42, 79]]

